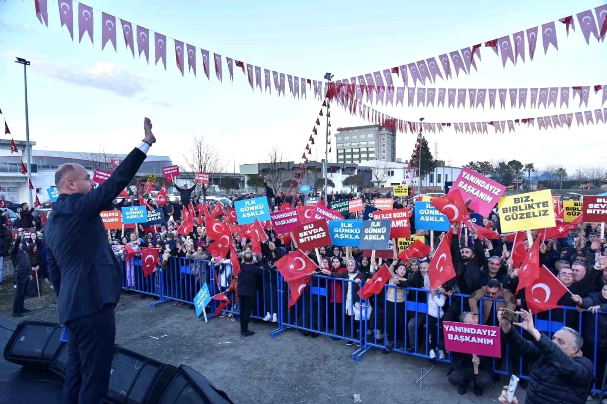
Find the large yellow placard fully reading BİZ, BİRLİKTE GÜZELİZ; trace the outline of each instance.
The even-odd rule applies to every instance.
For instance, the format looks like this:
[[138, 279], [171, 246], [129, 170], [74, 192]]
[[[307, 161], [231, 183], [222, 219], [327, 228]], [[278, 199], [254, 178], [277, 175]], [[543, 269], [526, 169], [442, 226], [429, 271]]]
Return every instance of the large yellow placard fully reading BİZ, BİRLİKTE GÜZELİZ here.
[[556, 226], [549, 189], [501, 197], [497, 206], [504, 233]]

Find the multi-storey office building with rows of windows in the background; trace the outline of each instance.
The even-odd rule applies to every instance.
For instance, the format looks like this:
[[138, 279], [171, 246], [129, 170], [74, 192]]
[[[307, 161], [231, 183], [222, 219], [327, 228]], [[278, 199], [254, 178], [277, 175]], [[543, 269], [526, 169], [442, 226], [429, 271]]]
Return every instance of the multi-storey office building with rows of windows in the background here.
[[396, 161], [396, 133], [381, 125], [341, 127], [336, 134], [337, 163]]

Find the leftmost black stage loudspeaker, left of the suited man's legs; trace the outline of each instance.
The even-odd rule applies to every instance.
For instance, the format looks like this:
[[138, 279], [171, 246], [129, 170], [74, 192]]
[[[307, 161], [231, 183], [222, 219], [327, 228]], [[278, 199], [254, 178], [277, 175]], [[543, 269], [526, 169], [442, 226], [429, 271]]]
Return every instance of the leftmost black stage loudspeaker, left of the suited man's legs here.
[[46, 369], [65, 343], [59, 341], [61, 327], [56, 323], [19, 323], [4, 346], [4, 359], [25, 368]]

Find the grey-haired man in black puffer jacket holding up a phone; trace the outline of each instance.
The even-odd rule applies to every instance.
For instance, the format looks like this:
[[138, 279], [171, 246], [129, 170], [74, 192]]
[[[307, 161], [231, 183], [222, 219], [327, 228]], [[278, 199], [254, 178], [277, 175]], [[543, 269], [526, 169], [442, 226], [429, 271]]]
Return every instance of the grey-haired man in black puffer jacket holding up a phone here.
[[[592, 383], [592, 362], [582, 356], [582, 337], [574, 329], [563, 327], [552, 341], [537, 331], [530, 311], [521, 310], [521, 323], [510, 323], [498, 311], [506, 343], [533, 363], [527, 387], [526, 404], [583, 404]], [[531, 334], [531, 341], [512, 329], [520, 326]]]

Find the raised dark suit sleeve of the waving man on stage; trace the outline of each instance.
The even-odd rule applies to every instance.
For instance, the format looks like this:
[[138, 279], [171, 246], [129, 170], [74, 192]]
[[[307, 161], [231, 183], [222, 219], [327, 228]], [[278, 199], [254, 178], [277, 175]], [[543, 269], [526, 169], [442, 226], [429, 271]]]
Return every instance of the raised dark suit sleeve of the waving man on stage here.
[[137, 148], [133, 149], [106, 182], [76, 200], [78, 210], [89, 216], [99, 214], [103, 207], [114, 200], [131, 182], [144, 160], [146, 153]]

